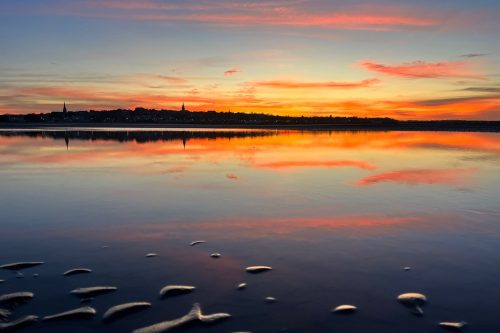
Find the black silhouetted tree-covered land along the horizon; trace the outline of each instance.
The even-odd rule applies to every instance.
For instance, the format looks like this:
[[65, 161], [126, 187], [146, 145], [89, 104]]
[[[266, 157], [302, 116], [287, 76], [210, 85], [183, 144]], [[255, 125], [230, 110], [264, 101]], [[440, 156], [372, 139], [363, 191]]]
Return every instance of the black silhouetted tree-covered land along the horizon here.
[[381, 130], [500, 131], [500, 121], [400, 121], [392, 118], [292, 117], [262, 113], [193, 112], [177, 110], [135, 110], [50, 112], [26, 115], [0, 115], [3, 123], [27, 124], [179, 124], [225, 126], [288, 126], [290, 128], [346, 128]]

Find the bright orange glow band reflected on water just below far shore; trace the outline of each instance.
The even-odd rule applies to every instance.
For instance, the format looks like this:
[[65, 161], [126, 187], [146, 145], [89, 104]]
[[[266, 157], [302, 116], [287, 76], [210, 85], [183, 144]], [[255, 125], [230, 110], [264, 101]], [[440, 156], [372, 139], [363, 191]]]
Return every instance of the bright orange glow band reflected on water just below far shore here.
[[[38, 163], [86, 165], [91, 161], [120, 161], [126, 165], [126, 162], [138, 162], [141, 158], [159, 157], [179, 157], [192, 163], [202, 157], [213, 160], [236, 157], [248, 166], [270, 170], [352, 167], [367, 171], [379, 168], [378, 163], [363, 158], [363, 154], [370, 151], [390, 149], [411, 152], [418, 149], [420, 153], [425, 153], [426, 150], [430, 152], [435, 149], [459, 149], [482, 154], [500, 153], [497, 135], [487, 133], [332, 132], [325, 135], [312, 132], [306, 136], [301, 132], [283, 131], [279, 135], [231, 140], [193, 138], [187, 141], [186, 148], [180, 139], [148, 143], [131, 141], [126, 144], [71, 140], [66, 154], [61, 154], [61, 150], [66, 150], [64, 141], [58, 142], [46, 138], [33, 143], [19, 136], [0, 136], [0, 149], [3, 149], [5, 156], [9, 152], [23, 152], [17, 156], [18, 159]], [[290, 147], [294, 149], [289, 149]], [[332, 158], [334, 153], [339, 156]], [[171, 166], [170, 170], [181, 172], [183, 168]]]

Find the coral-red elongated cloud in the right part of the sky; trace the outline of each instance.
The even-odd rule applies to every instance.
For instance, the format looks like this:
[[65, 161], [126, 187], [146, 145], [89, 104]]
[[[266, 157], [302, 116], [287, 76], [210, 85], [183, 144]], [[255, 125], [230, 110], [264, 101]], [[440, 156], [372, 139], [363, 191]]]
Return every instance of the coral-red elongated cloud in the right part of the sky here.
[[406, 78], [469, 78], [484, 79], [465, 61], [425, 62], [414, 61], [400, 65], [383, 65], [362, 61], [360, 66], [370, 71]]

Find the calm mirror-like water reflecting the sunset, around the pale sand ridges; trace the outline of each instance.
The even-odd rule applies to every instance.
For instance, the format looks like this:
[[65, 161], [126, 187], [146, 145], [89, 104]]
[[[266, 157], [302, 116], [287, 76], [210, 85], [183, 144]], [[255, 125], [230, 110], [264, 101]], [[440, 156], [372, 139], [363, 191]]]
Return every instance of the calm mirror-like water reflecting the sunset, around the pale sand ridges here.
[[[0, 271], [0, 294], [35, 292], [17, 318], [81, 306], [77, 287], [119, 288], [95, 298], [93, 320], [23, 332], [131, 332], [194, 302], [233, 317], [181, 331], [441, 332], [465, 320], [499, 332], [499, 162], [500, 135], [485, 133], [3, 131], [0, 264], [46, 264], [22, 279]], [[79, 266], [94, 272], [61, 276]], [[197, 289], [160, 300], [167, 284]], [[429, 298], [424, 317], [395, 300], [413, 291]], [[101, 322], [129, 301], [153, 306]], [[340, 304], [359, 312], [330, 313]]]

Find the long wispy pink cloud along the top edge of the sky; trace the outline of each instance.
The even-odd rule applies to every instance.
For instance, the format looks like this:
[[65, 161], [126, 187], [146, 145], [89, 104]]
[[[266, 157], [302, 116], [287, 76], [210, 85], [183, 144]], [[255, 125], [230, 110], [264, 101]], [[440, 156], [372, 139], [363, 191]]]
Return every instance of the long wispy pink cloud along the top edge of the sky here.
[[220, 27], [317, 27], [340, 30], [428, 29], [441, 20], [416, 11], [414, 7], [396, 10], [386, 6], [377, 10], [362, 6], [333, 6], [311, 1], [193, 1], [102, 0], [61, 3], [57, 8], [30, 8], [37, 14], [87, 16], [160, 22], [190, 22]]

